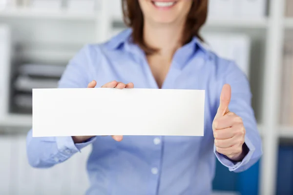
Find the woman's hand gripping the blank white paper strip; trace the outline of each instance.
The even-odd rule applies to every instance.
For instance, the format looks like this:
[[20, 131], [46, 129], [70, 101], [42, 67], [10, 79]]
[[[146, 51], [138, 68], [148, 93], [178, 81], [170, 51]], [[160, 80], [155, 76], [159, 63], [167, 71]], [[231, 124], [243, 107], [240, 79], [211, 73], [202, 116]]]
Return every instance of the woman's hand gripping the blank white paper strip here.
[[[87, 88], [94, 88], [97, 85], [97, 81], [93, 80], [88, 85]], [[124, 89], [124, 88], [133, 88], [133, 83], [127, 83], [124, 84], [122, 82], [117, 82], [116, 80], [112, 82], [108, 82], [105, 85], [102, 86], [102, 88], [118, 88], [118, 89]], [[94, 136], [73, 136], [72, 139], [74, 143], [82, 143], [91, 137]], [[112, 136], [114, 140], [121, 141], [123, 139], [123, 136]]]

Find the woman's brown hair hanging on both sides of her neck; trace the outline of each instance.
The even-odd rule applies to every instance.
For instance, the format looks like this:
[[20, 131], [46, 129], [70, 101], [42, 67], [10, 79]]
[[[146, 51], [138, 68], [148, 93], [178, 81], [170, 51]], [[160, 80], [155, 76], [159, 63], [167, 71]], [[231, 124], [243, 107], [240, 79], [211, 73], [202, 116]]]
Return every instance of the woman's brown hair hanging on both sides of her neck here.
[[[144, 18], [138, 0], [122, 0], [124, 22], [132, 28], [132, 39], [146, 54], [156, 53], [158, 50], [146, 45], [143, 38]], [[185, 24], [182, 44], [188, 43], [192, 37], [203, 40], [199, 30], [206, 22], [208, 13], [208, 0], [193, 0]]]

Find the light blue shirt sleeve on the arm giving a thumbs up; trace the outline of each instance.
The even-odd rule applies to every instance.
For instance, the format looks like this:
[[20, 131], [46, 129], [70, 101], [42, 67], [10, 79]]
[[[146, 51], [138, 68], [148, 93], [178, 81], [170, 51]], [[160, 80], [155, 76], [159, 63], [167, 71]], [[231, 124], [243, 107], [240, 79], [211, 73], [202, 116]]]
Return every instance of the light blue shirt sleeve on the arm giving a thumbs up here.
[[[224, 64], [220, 64], [223, 65]], [[229, 110], [242, 118], [246, 129], [245, 144], [249, 149], [248, 154], [240, 162], [234, 162], [227, 156], [219, 154], [214, 145], [214, 153], [218, 160], [230, 171], [242, 172], [250, 168], [262, 156], [262, 142], [257, 129], [254, 111], [251, 107], [251, 90], [246, 75], [233, 62], [225, 67], [222, 82], [219, 82], [218, 97], [225, 83], [231, 86], [231, 100]], [[218, 103], [219, 105], [219, 103]]]

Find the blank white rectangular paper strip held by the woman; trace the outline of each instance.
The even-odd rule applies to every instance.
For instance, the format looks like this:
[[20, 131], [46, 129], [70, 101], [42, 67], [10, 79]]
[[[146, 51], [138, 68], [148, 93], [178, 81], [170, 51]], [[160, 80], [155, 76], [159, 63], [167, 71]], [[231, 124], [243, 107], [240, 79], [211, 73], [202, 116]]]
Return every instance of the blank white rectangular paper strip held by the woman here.
[[33, 89], [33, 137], [204, 136], [204, 90]]

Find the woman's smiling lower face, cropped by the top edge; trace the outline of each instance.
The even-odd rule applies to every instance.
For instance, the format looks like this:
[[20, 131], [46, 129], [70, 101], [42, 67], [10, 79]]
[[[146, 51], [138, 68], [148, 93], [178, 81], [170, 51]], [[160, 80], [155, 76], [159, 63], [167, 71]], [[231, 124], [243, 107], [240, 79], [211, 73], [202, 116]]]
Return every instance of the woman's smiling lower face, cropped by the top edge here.
[[144, 18], [152, 23], [185, 21], [193, 0], [139, 0]]

